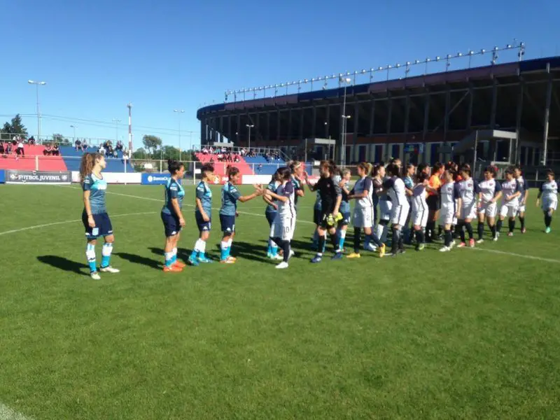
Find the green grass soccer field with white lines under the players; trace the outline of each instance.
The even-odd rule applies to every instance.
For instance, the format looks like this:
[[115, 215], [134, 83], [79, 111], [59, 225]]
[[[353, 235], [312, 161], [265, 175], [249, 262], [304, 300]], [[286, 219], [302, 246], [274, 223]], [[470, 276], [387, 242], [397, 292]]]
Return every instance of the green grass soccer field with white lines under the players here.
[[560, 221], [542, 232], [535, 190], [525, 235], [318, 265], [308, 192], [284, 270], [259, 197], [235, 265], [180, 274], [161, 270], [163, 194], [109, 186], [122, 271], [93, 281], [79, 186], [0, 186], [0, 419], [560, 418]]

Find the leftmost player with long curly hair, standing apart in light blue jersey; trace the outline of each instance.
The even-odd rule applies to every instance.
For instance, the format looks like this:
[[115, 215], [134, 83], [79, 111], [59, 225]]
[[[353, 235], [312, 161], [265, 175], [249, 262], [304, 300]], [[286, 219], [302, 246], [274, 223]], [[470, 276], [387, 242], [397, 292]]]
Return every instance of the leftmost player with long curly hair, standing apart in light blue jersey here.
[[90, 276], [94, 280], [101, 277], [97, 272], [97, 263], [95, 262], [95, 244], [97, 238], [104, 237], [105, 243], [102, 248], [102, 260], [100, 272], [118, 273], [119, 270], [111, 267], [111, 253], [113, 252], [113, 226], [111, 219], [107, 214], [105, 204], [105, 191], [107, 190], [107, 181], [103, 179], [101, 174], [105, 169], [105, 158], [99, 153], [85, 153], [80, 163], [80, 181], [83, 187], [83, 212], [82, 222], [85, 228], [85, 238], [87, 245], [85, 248], [85, 256], [87, 264], [90, 265]]

